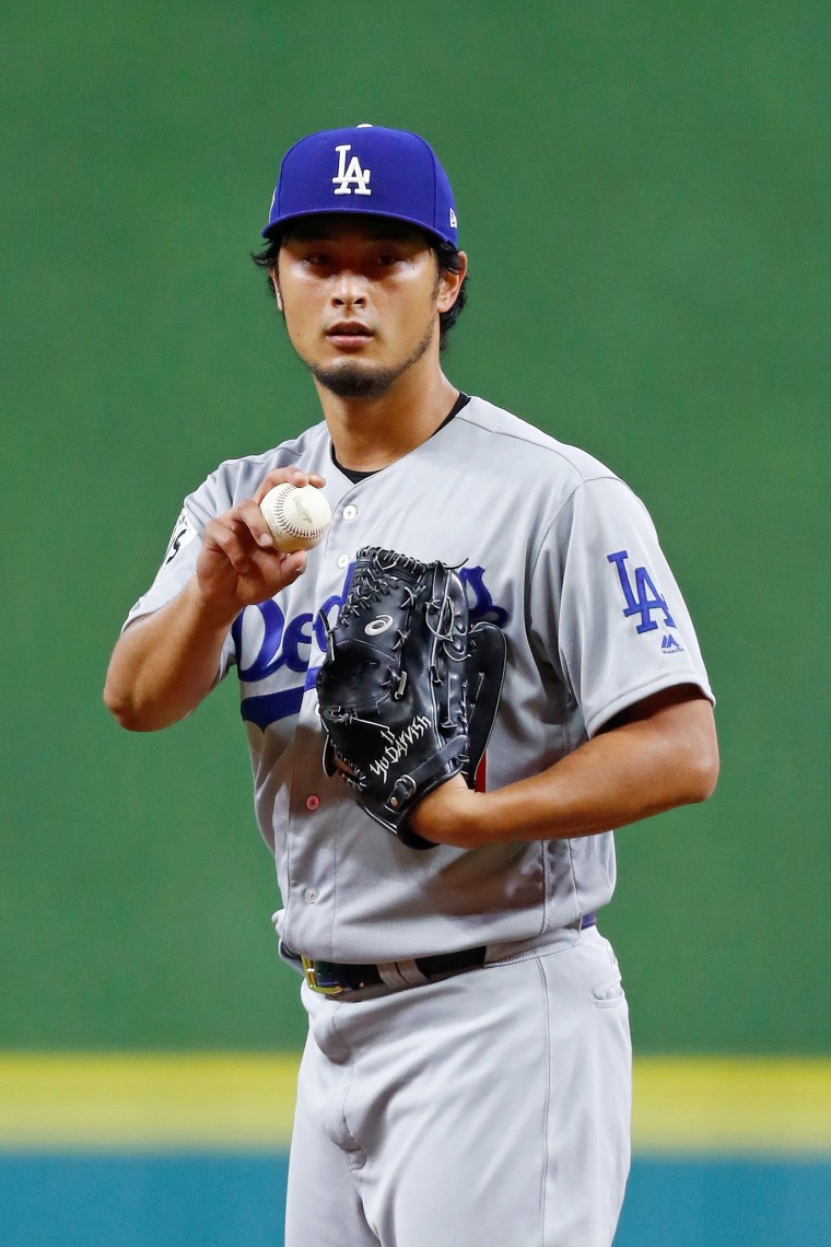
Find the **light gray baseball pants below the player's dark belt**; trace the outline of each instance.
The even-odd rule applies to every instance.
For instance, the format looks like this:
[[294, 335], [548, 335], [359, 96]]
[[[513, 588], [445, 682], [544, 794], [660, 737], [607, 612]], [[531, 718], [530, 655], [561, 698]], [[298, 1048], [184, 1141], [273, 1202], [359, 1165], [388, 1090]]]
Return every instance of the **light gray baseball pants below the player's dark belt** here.
[[303, 1000], [285, 1247], [609, 1247], [632, 1060], [597, 928], [374, 999], [304, 984]]

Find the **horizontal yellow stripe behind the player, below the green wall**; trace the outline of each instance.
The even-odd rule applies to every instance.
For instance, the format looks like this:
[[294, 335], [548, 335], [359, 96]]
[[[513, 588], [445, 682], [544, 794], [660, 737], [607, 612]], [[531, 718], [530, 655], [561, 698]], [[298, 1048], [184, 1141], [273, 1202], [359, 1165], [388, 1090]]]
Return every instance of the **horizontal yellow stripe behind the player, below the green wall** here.
[[[294, 1054], [0, 1055], [0, 1150], [285, 1148]], [[635, 1151], [831, 1156], [831, 1060], [642, 1057]]]

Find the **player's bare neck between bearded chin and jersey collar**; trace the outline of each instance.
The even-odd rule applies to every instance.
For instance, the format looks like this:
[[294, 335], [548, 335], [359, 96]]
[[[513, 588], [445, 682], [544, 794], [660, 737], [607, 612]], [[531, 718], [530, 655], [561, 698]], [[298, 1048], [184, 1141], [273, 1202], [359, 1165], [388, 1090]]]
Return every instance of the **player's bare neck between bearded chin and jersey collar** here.
[[[419, 375], [420, 374], [420, 375]], [[378, 471], [426, 441], [452, 409], [458, 390], [441, 369], [407, 369], [386, 394], [339, 398], [315, 382], [335, 458], [354, 471]]]

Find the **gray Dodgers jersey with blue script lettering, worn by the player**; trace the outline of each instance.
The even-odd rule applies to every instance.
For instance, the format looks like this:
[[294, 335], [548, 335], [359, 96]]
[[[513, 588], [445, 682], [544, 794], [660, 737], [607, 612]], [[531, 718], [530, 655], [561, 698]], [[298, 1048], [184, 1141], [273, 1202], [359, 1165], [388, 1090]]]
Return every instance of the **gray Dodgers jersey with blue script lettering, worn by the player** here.
[[643, 504], [591, 455], [473, 398], [405, 458], [354, 484], [324, 423], [222, 464], [184, 500], [162, 567], [128, 622], [194, 574], [204, 525], [272, 468], [326, 478], [333, 510], [308, 570], [235, 620], [234, 665], [257, 818], [283, 898], [278, 930], [306, 956], [392, 961], [556, 938], [614, 888], [612, 829], [574, 839], [415, 852], [321, 767], [315, 676], [359, 549], [461, 567], [473, 620], [507, 636], [486, 787], [552, 766], [619, 711], [673, 685], [711, 697], [680, 591]]

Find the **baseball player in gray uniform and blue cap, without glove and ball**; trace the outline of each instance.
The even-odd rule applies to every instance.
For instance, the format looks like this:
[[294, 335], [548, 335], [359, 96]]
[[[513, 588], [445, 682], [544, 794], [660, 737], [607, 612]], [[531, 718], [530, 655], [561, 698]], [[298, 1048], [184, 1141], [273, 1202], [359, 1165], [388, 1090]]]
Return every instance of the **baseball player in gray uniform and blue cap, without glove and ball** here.
[[[285, 1241], [608, 1247], [630, 1049], [597, 914], [612, 828], [715, 784], [689, 614], [613, 471], [442, 372], [467, 261], [422, 138], [302, 138], [264, 237], [323, 420], [186, 498], [105, 697], [125, 727], [161, 728], [237, 670], [279, 948], [309, 1015]], [[259, 510], [282, 481], [331, 505], [308, 554], [278, 552]], [[506, 641], [475, 787], [453, 773], [420, 799], [410, 843], [321, 764], [318, 676], [365, 547], [456, 569], [471, 624]]]

